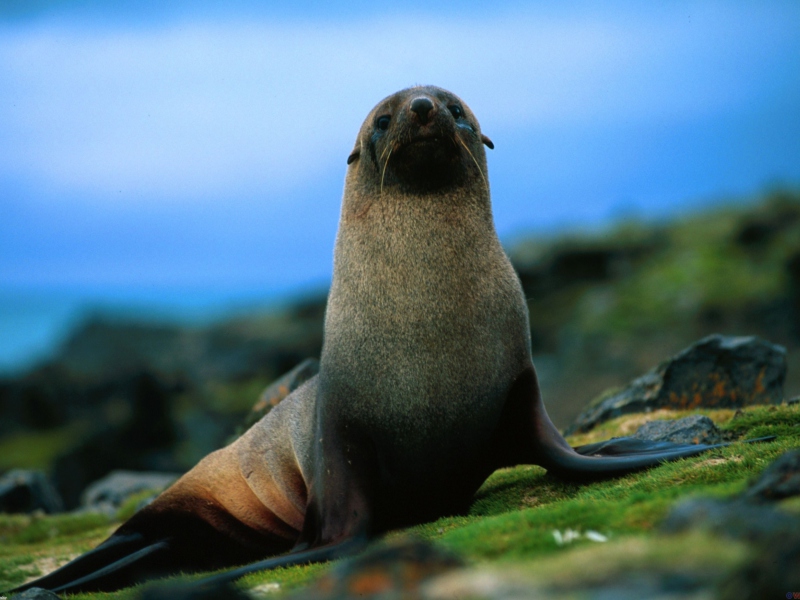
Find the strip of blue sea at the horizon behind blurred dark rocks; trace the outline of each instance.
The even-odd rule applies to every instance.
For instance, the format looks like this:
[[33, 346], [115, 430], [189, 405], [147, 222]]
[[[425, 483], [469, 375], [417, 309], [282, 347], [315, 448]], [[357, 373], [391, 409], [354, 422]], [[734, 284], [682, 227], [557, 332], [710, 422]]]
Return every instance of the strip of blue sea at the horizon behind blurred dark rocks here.
[[203, 325], [322, 289], [324, 285], [291, 290], [0, 287], [0, 375], [18, 374], [52, 356], [92, 315]]

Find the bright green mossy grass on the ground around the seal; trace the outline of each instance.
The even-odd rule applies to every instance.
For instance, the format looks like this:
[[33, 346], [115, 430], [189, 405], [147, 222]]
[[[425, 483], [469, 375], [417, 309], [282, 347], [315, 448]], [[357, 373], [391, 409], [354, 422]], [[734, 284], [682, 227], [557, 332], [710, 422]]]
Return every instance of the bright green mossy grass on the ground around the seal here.
[[[470, 513], [447, 517], [389, 538], [412, 533], [442, 544], [469, 562], [493, 568], [524, 568], [528, 575], [558, 584], [640, 568], [703, 570], [724, 573], [746, 560], [740, 544], [720, 544], [703, 534], [655, 538], [659, 522], [676, 502], [690, 496], [728, 497], [742, 491], [780, 454], [800, 447], [800, 405], [701, 411], [740, 439], [776, 435], [762, 444], [734, 444], [702, 456], [593, 484], [574, 484], [548, 476], [543, 469], [520, 466], [494, 473], [476, 495]], [[650, 418], [690, 413], [659, 411]], [[570, 441], [582, 444], [635, 429], [643, 415], [629, 415]], [[800, 512], [800, 503], [787, 501]], [[130, 511], [127, 510], [127, 513]], [[122, 516], [122, 515], [120, 515]], [[0, 589], [38, 575], [101, 541], [118, 524], [99, 515], [0, 515]], [[595, 531], [608, 542], [581, 537], [559, 545], [553, 532]], [[586, 565], [592, 565], [591, 570]], [[244, 587], [277, 582], [291, 590], [328, 567], [313, 565], [248, 576]], [[132, 598], [133, 590], [81, 594], [75, 598]]]

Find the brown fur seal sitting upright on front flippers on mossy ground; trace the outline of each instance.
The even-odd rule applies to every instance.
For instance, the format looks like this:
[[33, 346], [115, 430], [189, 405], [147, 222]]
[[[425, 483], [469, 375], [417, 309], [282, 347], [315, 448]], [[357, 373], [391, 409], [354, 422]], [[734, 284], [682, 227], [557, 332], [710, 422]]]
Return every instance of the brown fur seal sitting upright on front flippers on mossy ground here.
[[495, 233], [484, 145], [446, 90], [382, 100], [347, 159], [319, 374], [96, 549], [18, 590], [260, 561], [206, 581], [233, 580], [464, 511], [500, 467], [593, 479], [719, 447], [564, 440]]

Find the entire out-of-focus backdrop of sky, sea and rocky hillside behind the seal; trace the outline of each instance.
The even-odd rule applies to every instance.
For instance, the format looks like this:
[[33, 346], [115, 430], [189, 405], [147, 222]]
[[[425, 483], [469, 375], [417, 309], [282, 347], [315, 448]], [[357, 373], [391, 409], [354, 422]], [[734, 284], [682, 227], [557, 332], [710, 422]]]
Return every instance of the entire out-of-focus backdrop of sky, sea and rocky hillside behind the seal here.
[[356, 132], [427, 83], [496, 145], [557, 424], [712, 332], [800, 393], [793, 0], [5, 0], [0, 471], [75, 505], [223, 443], [318, 355]]

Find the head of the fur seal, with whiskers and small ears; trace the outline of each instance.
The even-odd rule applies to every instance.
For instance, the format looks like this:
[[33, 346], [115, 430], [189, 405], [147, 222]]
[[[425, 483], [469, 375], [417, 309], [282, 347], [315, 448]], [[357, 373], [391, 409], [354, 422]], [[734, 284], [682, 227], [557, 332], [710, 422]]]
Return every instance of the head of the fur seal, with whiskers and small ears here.
[[367, 116], [347, 159], [348, 184], [367, 194], [430, 194], [486, 182], [478, 120], [455, 94], [434, 86], [401, 90]]

